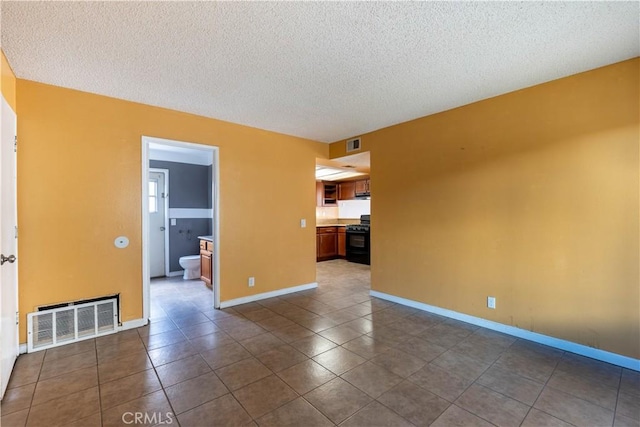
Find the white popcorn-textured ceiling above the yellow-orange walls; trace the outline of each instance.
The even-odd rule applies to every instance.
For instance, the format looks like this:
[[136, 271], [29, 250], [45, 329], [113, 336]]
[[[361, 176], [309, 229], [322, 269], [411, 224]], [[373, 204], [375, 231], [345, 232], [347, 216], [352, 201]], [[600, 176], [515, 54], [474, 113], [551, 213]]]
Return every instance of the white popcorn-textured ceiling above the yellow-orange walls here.
[[8, 2], [19, 78], [333, 142], [640, 54], [638, 2]]

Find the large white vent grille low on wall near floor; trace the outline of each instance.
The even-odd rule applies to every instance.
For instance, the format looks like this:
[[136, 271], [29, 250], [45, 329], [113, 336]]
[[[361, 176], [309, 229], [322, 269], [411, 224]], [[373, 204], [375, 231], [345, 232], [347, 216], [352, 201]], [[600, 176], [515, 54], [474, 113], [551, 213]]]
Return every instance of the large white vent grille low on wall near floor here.
[[117, 298], [27, 314], [29, 353], [118, 331]]

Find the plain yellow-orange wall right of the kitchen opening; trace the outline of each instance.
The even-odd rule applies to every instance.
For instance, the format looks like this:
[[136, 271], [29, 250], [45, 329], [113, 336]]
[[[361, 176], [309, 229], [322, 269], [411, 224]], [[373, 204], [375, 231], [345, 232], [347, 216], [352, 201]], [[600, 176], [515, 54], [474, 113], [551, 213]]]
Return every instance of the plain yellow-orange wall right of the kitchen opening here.
[[639, 71], [636, 58], [364, 135], [372, 288], [640, 357]]

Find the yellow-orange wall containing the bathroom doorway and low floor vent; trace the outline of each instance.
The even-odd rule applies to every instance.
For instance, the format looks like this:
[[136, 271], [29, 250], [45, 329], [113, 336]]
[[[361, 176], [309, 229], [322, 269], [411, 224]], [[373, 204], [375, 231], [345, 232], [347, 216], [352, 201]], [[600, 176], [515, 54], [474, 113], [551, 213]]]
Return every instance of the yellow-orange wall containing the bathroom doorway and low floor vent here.
[[21, 79], [17, 93], [21, 313], [119, 292], [122, 320], [142, 317], [142, 135], [220, 147], [221, 301], [315, 281], [299, 224], [328, 145]]

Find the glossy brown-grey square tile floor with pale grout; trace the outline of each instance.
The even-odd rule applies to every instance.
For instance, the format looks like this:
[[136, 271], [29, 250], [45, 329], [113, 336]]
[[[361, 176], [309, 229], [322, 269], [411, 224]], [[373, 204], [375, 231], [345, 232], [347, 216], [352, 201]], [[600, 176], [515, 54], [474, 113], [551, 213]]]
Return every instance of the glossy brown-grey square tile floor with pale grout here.
[[371, 298], [369, 268], [227, 310], [152, 286], [149, 326], [19, 357], [2, 426], [638, 426], [640, 375]]

